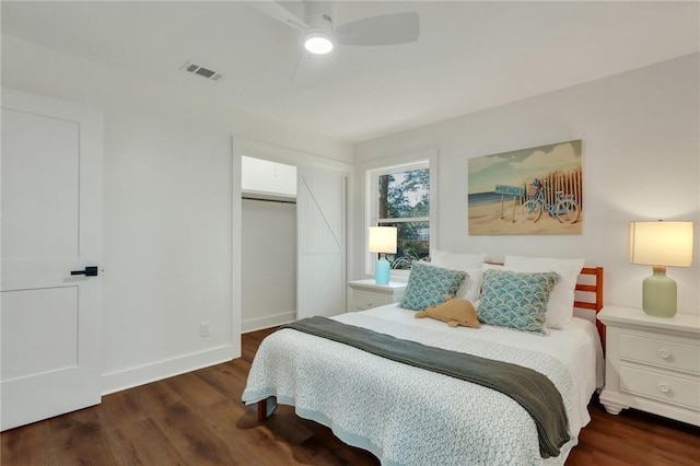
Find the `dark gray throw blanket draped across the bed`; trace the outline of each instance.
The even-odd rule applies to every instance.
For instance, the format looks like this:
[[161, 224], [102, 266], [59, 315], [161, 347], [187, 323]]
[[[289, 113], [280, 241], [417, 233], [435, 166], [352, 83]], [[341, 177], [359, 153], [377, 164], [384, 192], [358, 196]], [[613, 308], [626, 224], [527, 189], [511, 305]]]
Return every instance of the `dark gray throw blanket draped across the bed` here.
[[569, 420], [561, 394], [549, 378], [532, 369], [429, 347], [320, 316], [303, 318], [281, 328], [292, 328], [327, 338], [508, 395], [535, 421], [539, 453], [544, 458], [559, 456], [561, 446], [570, 440]]

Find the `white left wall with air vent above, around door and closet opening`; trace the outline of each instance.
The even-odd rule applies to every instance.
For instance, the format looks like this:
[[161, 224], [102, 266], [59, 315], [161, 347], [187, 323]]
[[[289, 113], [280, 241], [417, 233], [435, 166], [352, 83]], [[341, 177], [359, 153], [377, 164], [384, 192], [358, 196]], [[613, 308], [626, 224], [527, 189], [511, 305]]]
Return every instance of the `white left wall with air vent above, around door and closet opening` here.
[[3, 86], [104, 109], [103, 392], [237, 357], [241, 154], [231, 135], [334, 163], [351, 161], [351, 147], [13, 37], [2, 36], [1, 55]]

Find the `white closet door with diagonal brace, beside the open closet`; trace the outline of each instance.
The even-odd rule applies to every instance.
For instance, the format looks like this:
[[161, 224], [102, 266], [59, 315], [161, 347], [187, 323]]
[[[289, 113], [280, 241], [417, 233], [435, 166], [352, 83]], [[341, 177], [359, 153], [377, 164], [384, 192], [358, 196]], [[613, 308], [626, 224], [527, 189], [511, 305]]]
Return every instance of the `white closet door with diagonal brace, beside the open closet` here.
[[299, 168], [296, 318], [346, 311], [346, 177]]

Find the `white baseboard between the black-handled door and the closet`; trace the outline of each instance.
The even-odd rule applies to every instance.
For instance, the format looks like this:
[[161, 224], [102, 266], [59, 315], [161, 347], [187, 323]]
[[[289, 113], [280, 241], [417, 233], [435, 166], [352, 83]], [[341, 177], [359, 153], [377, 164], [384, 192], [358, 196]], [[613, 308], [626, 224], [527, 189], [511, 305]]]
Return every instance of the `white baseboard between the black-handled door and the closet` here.
[[234, 348], [233, 345], [225, 345], [138, 368], [106, 373], [102, 375], [102, 395], [121, 392], [122, 389], [161, 381], [240, 357], [240, 345], [238, 348]]

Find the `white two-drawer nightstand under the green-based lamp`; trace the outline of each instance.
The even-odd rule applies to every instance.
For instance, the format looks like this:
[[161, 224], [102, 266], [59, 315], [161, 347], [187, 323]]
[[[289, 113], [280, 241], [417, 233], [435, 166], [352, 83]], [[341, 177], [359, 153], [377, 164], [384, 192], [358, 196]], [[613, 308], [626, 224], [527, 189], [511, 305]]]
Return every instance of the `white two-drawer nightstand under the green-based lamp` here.
[[611, 415], [635, 408], [700, 426], [700, 316], [651, 317], [605, 306], [605, 388]]

